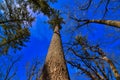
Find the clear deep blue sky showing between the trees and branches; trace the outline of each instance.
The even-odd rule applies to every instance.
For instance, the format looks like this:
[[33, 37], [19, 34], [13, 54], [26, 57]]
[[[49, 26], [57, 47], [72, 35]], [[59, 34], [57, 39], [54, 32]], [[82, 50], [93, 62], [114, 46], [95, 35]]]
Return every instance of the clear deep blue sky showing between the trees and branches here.
[[[51, 5], [57, 9], [64, 11], [65, 4], [71, 5], [71, 8], [75, 5], [72, 3], [71, 0], [59, 0], [54, 5]], [[89, 11], [89, 15], [87, 14], [88, 18], [96, 18], [99, 19], [101, 15], [94, 16], [92, 11]], [[26, 43], [27, 47], [23, 47], [21, 51], [18, 51], [17, 54], [21, 54], [23, 57], [21, 61], [18, 63], [18, 75], [20, 76], [20, 80], [25, 80], [25, 65], [26, 62], [31, 62], [33, 58], [36, 58], [37, 56], [40, 57], [41, 62], [43, 63], [49, 48], [50, 40], [52, 37], [52, 30], [50, 29], [49, 25], [45, 23], [45, 21], [48, 20], [48, 18], [43, 15], [42, 13], [39, 15], [35, 15], [36, 19], [33, 22], [33, 26], [31, 27], [31, 36], [30, 41]], [[63, 17], [66, 17], [62, 15]], [[114, 19], [114, 18], [109, 18]], [[118, 19], [119, 20], [119, 19]], [[63, 25], [63, 29], [61, 31], [62, 33], [62, 41], [67, 42], [69, 41], [71, 33], [69, 32], [69, 29], [71, 29], [71, 25], [74, 24], [72, 22], [66, 23]], [[90, 24], [90, 28], [87, 26], [84, 26], [80, 28], [76, 33], [87, 35], [88, 39], [90, 39], [91, 44], [99, 43], [101, 47], [104, 48], [104, 51], [107, 53], [113, 54], [116, 51], [115, 55], [119, 55], [120, 52], [120, 32], [119, 30], [115, 30], [112, 28], [105, 28], [105, 26], [101, 26], [100, 24]], [[117, 31], [117, 32], [115, 32]], [[90, 35], [88, 35], [90, 34]], [[75, 34], [74, 34], [75, 35]], [[114, 37], [117, 36], [117, 37]], [[104, 40], [103, 40], [104, 38]], [[116, 38], [116, 41], [114, 39]], [[111, 42], [114, 41], [111, 45]], [[118, 56], [119, 57], [119, 56]], [[71, 76], [71, 80], [82, 80], [85, 76], [83, 75], [81, 78], [78, 78], [75, 73], [77, 72], [77, 69], [74, 69], [73, 67], [69, 66], [69, 73]], [[84, 79], [85, 80], [85, 79]]]

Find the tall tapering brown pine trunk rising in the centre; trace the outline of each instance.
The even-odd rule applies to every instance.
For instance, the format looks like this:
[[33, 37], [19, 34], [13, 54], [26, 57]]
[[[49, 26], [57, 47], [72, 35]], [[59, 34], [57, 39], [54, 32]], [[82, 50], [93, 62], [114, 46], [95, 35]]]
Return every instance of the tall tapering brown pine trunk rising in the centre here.
[[70, 80], [62, 49], [59, 26], [54, 29], [40, 80]]

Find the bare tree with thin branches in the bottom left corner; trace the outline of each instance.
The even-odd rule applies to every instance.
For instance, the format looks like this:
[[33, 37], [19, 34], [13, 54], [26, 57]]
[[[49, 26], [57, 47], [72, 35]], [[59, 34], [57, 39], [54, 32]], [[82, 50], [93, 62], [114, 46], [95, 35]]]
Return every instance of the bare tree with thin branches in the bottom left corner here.
[[17, 64], [21, 56], [1, 56], [0, 57], [0, 80], [19, 80]]

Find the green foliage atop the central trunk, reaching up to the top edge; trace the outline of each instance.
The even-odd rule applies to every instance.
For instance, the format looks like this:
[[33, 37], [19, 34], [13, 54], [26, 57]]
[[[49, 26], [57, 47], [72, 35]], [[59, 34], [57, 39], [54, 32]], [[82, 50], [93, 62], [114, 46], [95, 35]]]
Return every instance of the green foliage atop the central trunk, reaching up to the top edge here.
[[57, 2], [57, 0], [28, 0], [28, 4], [33, 12], [43, 12], [45, 15], [49, 17], [48, 23], [51, 28], [54, 29], [56, 25], [59, 25], [61, 28], [61, 24], [63, 22], [63, 18], [60, 17], [60, 12], [50, 7], [49, 3]]

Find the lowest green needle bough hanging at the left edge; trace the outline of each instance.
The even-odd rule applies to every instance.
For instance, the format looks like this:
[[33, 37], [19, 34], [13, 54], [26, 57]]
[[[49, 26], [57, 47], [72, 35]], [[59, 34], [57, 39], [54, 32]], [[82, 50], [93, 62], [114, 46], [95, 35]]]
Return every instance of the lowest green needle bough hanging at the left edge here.
[[21, 50], [25, 42], [29, 41], [30, 32], [28, 28], [16, 30], [15, 34], [10, 34], [2, 38], [0, 42], [0, 54], [7, 53], [10, 48], [14, 51]]

